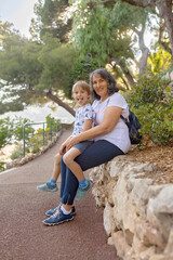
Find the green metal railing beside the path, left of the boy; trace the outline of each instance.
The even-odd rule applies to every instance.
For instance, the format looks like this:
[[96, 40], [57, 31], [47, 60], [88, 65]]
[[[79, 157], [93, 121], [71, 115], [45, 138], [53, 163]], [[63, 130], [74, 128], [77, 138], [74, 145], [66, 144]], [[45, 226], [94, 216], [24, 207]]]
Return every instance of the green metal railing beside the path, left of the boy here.
[[[37, 131], [27, 132], [27, 127], [41, 125], [42, 128]], [[48, 141], [52, 141], [52, 138], [59, 132], [62, 125], [59, 120], [53, 120], [48, 122], [29, 122], [25, 123], [23, 128], [23, 156], [25, 157], [26, 151], [39, 146], [44, 146]]]

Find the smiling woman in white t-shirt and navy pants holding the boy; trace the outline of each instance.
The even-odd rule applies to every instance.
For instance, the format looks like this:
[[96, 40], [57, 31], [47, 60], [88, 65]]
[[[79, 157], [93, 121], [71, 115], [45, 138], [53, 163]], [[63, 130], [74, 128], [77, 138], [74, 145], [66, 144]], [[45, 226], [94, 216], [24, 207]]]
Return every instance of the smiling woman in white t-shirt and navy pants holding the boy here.
[[[114, 77], [106, 69], [96, 69], [90, 75], [92, 95], [95, 99], [93, 109], [96, 114], [95, 127], [81, 132], [66, 143], [66, 151], [85, 140], [94, 139], [76, 161], [83, 171], [102, 165], [130, 150], [129, 129], [120, 118], [129, 116], [129, 107], [124, 98], [118, 93]], [[61, 151], [62, 153], [62, 151]], [[46, 225], [59, 224], [74, 219], [74, 199], [78, 190], [78, 180], [62, 159], [62, 203], [55, 209], [46, 211]], [[88, 191], [85, 191], [86, 193]], [[84, 194], [85, 195], [85, 194]]]

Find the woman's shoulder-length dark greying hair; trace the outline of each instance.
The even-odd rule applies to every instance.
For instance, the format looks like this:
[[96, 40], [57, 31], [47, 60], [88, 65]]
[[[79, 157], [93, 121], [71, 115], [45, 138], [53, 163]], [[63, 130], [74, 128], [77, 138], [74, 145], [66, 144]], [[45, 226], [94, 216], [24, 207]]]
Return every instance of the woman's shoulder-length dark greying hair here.
[[112, 95], [115, 92], [118, 92], [119, 89], [117, 88], [117, 83], [115, 78], [108, 73], [105, 68], [95, 69], [90, 74], [90, 87], [91, 87], [91, 94], [93, 100], [101, 100], [101, 96], [96, 94], [94, 87], [93, 87], [93, 76], [99, 75], [107, 81], [107, 93], [108, 95]]

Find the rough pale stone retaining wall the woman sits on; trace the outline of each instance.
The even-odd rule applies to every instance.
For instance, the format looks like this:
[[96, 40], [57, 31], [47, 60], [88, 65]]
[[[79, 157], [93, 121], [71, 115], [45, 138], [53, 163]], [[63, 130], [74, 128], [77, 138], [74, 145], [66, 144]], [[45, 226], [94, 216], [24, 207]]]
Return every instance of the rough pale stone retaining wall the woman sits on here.
[[156, 171], [123, 155], [90, 172], [108, 244], [124, 260], [173, 260], [173, 184], [155, 183]]

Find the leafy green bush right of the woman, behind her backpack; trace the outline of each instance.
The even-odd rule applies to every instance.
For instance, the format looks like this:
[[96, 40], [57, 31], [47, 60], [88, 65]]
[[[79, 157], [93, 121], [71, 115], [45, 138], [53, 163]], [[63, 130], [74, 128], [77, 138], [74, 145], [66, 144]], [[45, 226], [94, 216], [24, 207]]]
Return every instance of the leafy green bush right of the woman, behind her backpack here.
[[160, 75], [138, 80], [128, 102], [138, 117], [142, 134], [156, 144], [168, 144], [173, 139], [173, 96], [168, 81]]

